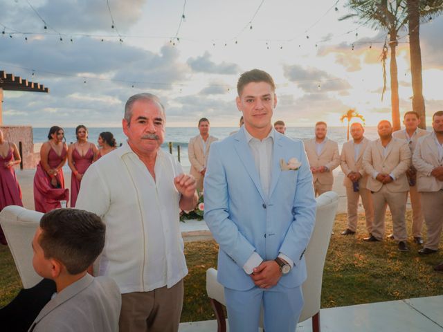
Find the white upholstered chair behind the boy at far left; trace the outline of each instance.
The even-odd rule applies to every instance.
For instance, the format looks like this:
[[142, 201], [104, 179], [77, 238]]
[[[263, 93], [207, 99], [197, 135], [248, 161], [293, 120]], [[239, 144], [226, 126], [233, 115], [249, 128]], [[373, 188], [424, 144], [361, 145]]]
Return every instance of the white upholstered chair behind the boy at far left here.
[[42, 280], [33, 268], [31, 243], [39, 226], [41, 212], [10, 205], [1, 210], [0, 224], [19, 271], [23, 288], [31, 288]]

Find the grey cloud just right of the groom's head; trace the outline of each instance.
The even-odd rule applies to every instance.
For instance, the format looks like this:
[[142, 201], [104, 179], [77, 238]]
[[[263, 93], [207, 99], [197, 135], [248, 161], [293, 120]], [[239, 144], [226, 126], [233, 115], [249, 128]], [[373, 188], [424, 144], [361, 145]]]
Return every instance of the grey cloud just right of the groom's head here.
[[284, 77], [298, 86], [307, 93], [316, 93], [321, 91], [344, 91], [350, 89], [350, 84], [341, 79], [329, 75], [326, 71], [318, 68], [303, 68], [296, 64], [292, 66], [283, 66]]

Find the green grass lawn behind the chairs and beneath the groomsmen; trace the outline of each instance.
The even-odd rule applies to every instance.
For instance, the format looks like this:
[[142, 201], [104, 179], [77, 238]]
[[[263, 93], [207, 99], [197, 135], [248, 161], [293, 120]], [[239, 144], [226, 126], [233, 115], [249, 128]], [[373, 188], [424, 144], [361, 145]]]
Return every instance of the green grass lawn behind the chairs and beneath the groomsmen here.
[[[346, 228], [346, 215], [336, 218], [323, 274], [322, 308], [443, 294], [443, 273], [433, 270], [443, 261], [442, 245], [436, 254], [422, 257], [417, 254], [421, 246], [412, 241], [408, 243], [409, 252], [399, 252], [392, 240], [367, 243], [363, 241], [367, 236], [364, 218], [360, 219], [357, 234], [344, 237], [340, 232]], [[410, 212], [407, 219], [410, 234]], [[390, 234], [390, 216], [386, 225], [386, 234]], [[206, 295], [206, 270], [217, 267], [217, 250], [215, 241], [185, 243], [189, 275], [185, 278], [182, 322], [215, 319]], [[4, 306], [21, 287], [4, 246], [0, 247], [0, 271], [0, 306]]]

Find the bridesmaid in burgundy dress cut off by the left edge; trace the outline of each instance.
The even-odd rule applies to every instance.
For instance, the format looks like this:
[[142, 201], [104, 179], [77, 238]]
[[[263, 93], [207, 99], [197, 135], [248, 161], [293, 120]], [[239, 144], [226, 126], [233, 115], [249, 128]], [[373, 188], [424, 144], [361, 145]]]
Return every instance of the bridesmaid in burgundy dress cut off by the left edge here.
[[[14, 172], [14, 166], [20, 162], [21, 158], [17, 146], [6, 141], [3, 137], [3, 131], [0, 129], [0, 211], [8, 205], [23, 206], [19, 181], [17, 181]], [[1, 226], [0, 243], [7, 244]]]

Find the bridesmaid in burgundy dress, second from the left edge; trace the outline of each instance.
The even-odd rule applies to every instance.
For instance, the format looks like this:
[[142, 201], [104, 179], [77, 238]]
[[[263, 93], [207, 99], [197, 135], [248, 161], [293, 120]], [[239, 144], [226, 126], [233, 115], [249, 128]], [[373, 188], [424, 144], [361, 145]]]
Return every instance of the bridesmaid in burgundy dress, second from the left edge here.
[[40, 149], [40, 163], [34, 176], [35, 210], [49, 212], [61, 208], [60, 201], [69, 201], [69, 190], [64, 187], [63, 165], [66, 163], [68, 147], [62, 128], [49, 129], [48, 141]]

